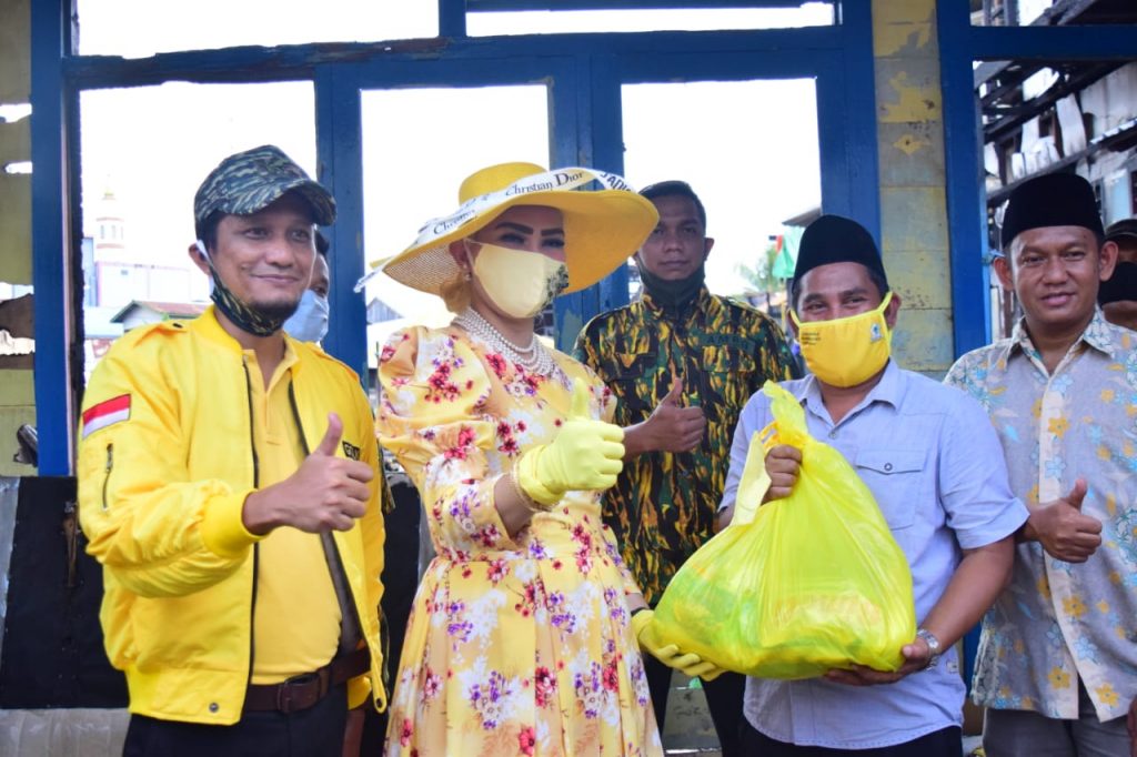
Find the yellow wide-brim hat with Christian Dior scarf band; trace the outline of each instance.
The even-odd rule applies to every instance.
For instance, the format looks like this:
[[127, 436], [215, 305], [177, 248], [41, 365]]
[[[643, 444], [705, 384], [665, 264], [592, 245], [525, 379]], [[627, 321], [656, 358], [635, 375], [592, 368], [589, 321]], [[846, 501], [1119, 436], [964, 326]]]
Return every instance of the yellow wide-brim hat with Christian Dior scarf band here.
[[[592, 182], [604, 189], [581, 190]], [[655, 206], [615, 174], [595, 168], [547, 170], [531, 163], [482, 168], [462, 182], [459, 207], [428, 221], [418, 238], [387, 261], [373, 263], [395, 281], [438, 294], [462, 275], [450, 243], [472, 236], [515, 205], [561, 210], [565, 232], [568, 288], [591, 286], [634, 253], [658, 223]]]

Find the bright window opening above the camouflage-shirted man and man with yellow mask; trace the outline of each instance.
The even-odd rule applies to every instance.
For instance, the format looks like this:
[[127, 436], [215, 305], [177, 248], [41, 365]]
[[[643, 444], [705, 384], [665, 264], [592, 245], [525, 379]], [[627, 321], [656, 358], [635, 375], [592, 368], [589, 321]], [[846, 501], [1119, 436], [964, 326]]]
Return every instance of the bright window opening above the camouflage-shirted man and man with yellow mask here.
[[632, 185], [686, 181], [706, 207], [707, 288], [765, 307], [764, 292], [781, 288], [739, 266], [765, 271], [783, 223], [820, 207], [813, 81], [625, 85], [623, 120]]

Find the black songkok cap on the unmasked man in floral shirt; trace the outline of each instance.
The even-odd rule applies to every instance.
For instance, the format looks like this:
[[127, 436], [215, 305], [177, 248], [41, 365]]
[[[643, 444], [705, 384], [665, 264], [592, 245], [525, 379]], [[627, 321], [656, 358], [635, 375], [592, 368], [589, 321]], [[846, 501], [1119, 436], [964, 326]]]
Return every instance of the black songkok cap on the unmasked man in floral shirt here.
[[1102, 239], [1102, 216], [1089, 182], [1078, 174], [1046, 174], [1016, 186], [1003, 214], [1003, 251], [1022, 232], [1044, 226], [1081, 226]]

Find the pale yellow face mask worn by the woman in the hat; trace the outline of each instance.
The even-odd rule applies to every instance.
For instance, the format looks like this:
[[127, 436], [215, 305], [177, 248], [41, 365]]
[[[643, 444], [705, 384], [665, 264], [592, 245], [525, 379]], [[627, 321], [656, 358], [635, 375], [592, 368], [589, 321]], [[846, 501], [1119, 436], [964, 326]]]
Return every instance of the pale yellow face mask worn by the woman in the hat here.
[[[531, 318], [568, 286], [565, 264], [541, 252], [474, 242], [474, 275], [503, 313]], [[467, 248], [468, 249], [468, 248]]]

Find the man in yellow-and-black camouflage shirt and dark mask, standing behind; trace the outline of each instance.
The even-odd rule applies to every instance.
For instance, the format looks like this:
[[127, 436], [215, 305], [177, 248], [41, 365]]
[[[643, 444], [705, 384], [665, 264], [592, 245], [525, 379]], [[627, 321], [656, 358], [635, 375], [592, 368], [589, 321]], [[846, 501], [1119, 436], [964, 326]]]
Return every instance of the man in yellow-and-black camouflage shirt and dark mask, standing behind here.
[[[679, 566], [714, 534], [738, 414], [766, 380], [796, 374], [781, 328], [761, 311], [704, 285], [714, 240], [706, 210], [680, 181], [640, 192], [659, 223], [636, 253], [641, 297], [595, 317], [575, 357], [617, 399], [623, 473], [604, 499], [604, 519], [644, 597], [654, 606]], [[671, 669], [645, 659], [659, 730]], [[745, 676], [704, 682], [724, 757], [737, 755]]]

